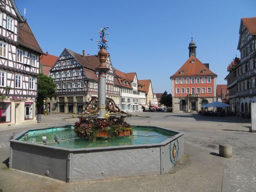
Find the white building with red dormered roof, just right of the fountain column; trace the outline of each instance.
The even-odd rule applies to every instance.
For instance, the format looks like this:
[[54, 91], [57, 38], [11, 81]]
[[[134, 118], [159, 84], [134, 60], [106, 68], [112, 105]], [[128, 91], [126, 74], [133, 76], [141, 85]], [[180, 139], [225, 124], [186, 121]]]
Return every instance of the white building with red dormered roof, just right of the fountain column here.
[[145, 104], [145, 90], [138, 82], [135, 72], [123, 73], [115, 69], [115, 74], [121, 85], [121, 109], [127, 112], [141, 111]]

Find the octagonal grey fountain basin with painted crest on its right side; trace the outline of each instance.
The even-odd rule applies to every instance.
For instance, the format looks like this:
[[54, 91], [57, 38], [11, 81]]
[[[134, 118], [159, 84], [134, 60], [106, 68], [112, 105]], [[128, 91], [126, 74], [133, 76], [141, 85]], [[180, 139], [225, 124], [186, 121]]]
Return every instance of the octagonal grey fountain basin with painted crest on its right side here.
[[[147, 129], [150, 135], [140, 135]], [[50, 132], [45, 128], [34, 131], [46, 130]], [[104, 139], [89, 144], [74, 139], [74, 143], [70, 143], [67, 139], [67, 143], [60, 140], [57, 144], [48, 139], [49, 144], [42, 144], [25, 141], [23, 135], [31, 133], [26, 130], [9, 140], [9, 168], [77, 182], [163, 174], [183, 155], [182, 132], [153, 126], [135, 126], [132, 132], [135, 135], [119, 137], [117, 143]], [[139, 137], [141, 139], [136, 139]]]

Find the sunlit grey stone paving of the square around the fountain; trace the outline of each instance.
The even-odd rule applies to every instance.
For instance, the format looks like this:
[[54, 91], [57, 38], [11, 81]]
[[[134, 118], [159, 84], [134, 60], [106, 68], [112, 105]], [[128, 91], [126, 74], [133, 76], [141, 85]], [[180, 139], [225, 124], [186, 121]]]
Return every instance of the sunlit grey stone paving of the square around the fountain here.
[[[207, 117], [192, 113], [139, 112], [131, 124], [157, 125], [184, 132], [184, 157], [169, 173], [108, 180], [65, 183], [22, 171], [9, 170], [6, 143], [13, 131], [72, 124], [67, 114], [42, 116], [35, 125], [0, 127], [0, 189], [5, 191], [255, 191], [256, 133], [249, 119]], [[218, 156], [218, 144], [232, 145], [232, 158]]]

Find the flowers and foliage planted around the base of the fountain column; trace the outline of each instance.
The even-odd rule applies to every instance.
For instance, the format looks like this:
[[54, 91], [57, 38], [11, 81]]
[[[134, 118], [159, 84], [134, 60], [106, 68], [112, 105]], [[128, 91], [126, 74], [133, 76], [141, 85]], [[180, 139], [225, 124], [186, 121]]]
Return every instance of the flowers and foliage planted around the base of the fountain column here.
[[124, 117], [109, 116], [106, 119], [98, 119], [95, 116], [79, 117], [79, 121], [74, 123], [74, 131], [80, 138], [89, 138], [95, 141], [96, 137], [107, 136], [112, 139], [118, 135], [128, 132], [131, 134], [131, 126], [124, 121]]

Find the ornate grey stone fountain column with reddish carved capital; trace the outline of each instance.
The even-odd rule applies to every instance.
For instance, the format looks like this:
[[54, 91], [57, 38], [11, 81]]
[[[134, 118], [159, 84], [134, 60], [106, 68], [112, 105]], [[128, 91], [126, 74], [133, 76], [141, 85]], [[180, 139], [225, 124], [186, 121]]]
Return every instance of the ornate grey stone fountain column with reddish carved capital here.
[[96, 67], [98, 71], [98, 104], [99, 104], [99, 117], [104, 118], [106, 112], [106, 72], [109, 68], [105, 65], [107, 52], [105, 48], [101, 48], [98, 51], [98, 57], [100, 64]]

